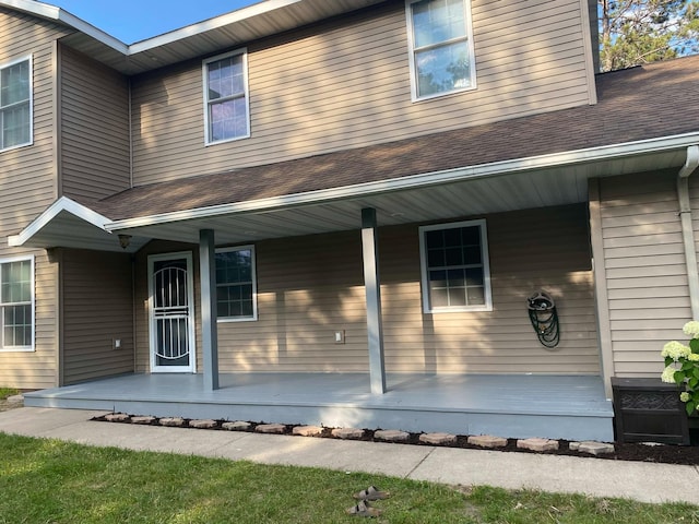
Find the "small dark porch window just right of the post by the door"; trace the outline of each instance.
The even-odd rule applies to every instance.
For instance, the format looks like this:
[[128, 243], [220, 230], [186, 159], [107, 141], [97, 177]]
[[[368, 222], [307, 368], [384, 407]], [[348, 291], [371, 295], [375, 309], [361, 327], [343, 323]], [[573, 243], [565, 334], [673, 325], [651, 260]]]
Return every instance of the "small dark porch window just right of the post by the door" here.
[[216, 314], [218, 320], [257, 320], [254, 247], [216, 250]]

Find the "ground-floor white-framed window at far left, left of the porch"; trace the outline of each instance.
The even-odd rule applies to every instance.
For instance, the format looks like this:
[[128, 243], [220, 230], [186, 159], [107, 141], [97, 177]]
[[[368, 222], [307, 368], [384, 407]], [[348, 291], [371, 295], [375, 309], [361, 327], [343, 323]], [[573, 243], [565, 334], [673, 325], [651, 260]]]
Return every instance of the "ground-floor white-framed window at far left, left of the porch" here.
[[0, 261], [0, 350], [34, 347], [33, 275], [32, 259]]

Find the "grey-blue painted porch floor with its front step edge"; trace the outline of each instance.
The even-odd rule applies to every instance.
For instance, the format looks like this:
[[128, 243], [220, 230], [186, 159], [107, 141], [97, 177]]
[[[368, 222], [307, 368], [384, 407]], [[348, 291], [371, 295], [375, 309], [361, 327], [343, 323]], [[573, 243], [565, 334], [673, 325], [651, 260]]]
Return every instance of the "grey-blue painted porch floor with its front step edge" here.
[[614, 440], [602, 378], [534, 374], [130, 374], [25, 395], [25, 405], [131, 415], [214, 418], [455, 434]]

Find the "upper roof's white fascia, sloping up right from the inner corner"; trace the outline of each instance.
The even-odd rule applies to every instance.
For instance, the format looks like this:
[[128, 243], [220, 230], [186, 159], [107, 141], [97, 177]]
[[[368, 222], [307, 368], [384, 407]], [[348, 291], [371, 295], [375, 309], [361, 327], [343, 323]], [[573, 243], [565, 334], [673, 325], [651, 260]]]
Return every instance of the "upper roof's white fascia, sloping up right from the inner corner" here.
[[159, 36], [155, 36], [153, 38], [147, 38], [145, 40], [138, 41], [129, 46], [128, 53], [135, 55], [138, 52], [147, 51], [149, 49], [153, 49], [155, 47], [166, 46], [177, 40], [181, 40], [183, 38], [188, 38], [190, 36], [199, 35], [201, 33], [206, 33], [208, 31], [217, 29], [218, 27], [223, 27], [229, 24], [234, 24], [236, 22], [240, 22], [247, 19], [251, 19], [253, 16], [258, 16], [260, 14], [269, 13], [270, 11], [274, 11], [280, 8], [285, 8], [286, 5], [292, 5], [294, 3], [298, 3], [303, 0], [265, 0], [247, 8], [238, 9], [237, 11], [233, 11], [227, 14], [222, 14], [220, 16], [214, 16], [212, 19], [205, 20], [203, 22], [199, 22], [197, 24], [188, 25], [187, 27], [182, 27], [180, 29], [170, 31]]

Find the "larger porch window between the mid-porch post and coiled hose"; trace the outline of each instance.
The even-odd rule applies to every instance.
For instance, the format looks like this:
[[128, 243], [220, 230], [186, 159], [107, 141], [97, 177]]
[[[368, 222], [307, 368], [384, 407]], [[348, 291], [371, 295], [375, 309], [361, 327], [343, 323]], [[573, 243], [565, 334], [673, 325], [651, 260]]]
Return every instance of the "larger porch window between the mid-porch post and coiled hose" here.
[[493, 309], [485, 221], [420, 227], [419, 246], [426, 313]]

